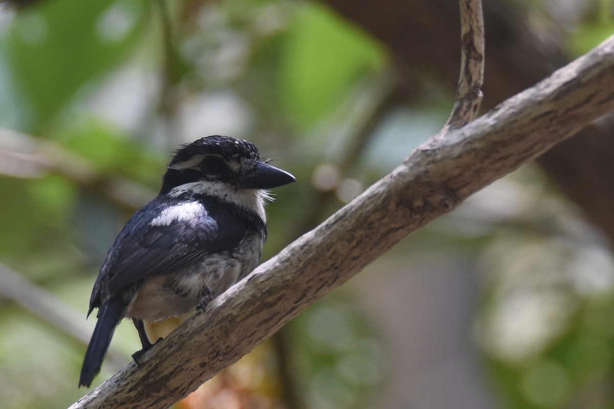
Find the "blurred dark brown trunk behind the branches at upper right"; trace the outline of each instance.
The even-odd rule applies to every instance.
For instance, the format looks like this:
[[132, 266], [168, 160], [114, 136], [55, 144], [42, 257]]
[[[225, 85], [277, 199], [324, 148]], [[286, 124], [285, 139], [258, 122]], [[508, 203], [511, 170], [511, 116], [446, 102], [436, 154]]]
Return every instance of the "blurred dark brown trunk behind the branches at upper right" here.
[[[425, 72], [454, 90], [460, 61], [456, 0], [325, 3], [389, 47], [398, 78], [408, 93], [413, 93], [414, 82]], [[483, 7], [486, 77], [482, 107], [488, 110], [550, 75], [570, 58], [561, 46], [563, 36], [548, 23], [534, 25], [526, 2], [488, 0]], [[614, 121], [587, 125], [537, 162], [614, 242]]]

